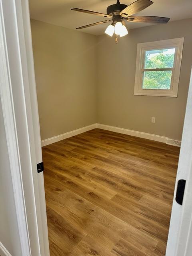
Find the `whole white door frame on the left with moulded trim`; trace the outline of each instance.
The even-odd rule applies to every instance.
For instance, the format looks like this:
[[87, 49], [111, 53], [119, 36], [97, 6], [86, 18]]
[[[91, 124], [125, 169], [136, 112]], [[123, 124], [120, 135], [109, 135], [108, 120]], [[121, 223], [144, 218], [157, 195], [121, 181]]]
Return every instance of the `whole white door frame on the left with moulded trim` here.
[[0, 21], [0, 96], [22, 256], [49, 256], [28, 0], [1, 0]]

